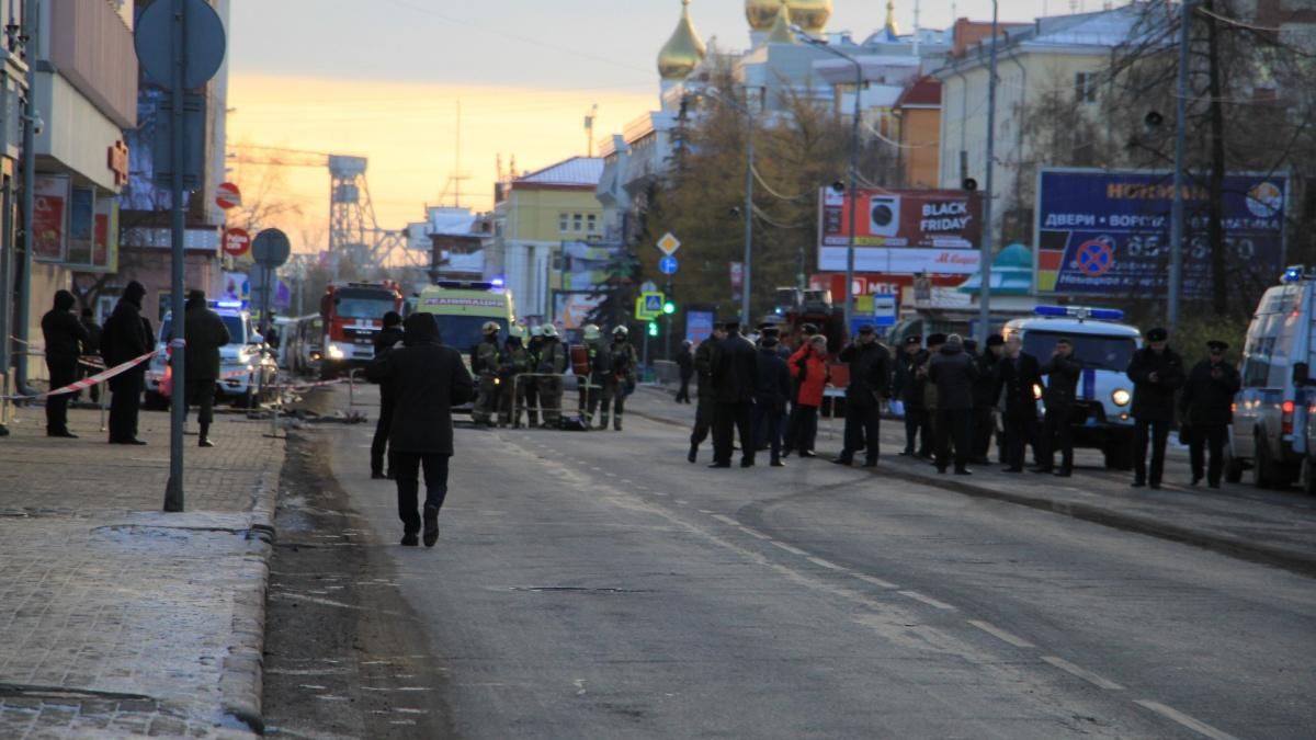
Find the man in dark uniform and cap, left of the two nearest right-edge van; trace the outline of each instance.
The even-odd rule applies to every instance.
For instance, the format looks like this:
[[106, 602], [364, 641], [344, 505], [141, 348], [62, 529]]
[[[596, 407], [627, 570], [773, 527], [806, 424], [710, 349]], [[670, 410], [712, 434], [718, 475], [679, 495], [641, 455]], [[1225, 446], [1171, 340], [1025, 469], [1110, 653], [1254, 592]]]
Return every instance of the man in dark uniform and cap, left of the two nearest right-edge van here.
[[[1148, 346], [1133, 353], [1128, 375], [1133, 381], [1133, 487], [1161, 487], [1165, 471], [1165, 442], [1174, 424], [1174, 394], [1187, 379], [1183, 359], [1166, 344], [1169, 333], [1148, 332]], [[1152, 441], [1152, 470], [1148, 471], [1148, 438]]]

